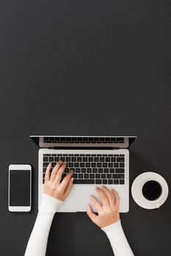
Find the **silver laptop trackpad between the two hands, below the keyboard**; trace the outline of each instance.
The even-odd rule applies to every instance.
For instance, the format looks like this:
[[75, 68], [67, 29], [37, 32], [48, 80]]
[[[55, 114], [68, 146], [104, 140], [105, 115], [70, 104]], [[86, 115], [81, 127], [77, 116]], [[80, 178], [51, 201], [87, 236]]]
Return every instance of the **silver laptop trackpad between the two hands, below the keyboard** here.
[[99, 199], [95, 187], [94, 185], [75, 185], [64, 200], [64, 211], [87, 211], [87, 204], [91, 203], [89, 196], [95, 195]]

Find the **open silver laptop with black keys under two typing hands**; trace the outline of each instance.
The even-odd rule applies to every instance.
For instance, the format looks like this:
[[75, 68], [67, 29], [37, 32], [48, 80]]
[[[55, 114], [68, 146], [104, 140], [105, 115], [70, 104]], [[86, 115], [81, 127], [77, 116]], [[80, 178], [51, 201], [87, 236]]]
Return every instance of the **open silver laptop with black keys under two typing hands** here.
[[[95, 187], [115, 188], [120, 195], [120, 212], [129, 211], [129, 146], [136, 136], [40, 136], [30, 138], [39, 147], [38, 207], [42, 199], [45, 171], [49, 162], [66, 161], [62, 179], [73, 170], [74, 187], [59, 212], [87, 211], [89, 195], [100, 201]], [[92, 206], [92, 205], [91, 205]], [[96, 211], [94, 206], [93, 210]]]

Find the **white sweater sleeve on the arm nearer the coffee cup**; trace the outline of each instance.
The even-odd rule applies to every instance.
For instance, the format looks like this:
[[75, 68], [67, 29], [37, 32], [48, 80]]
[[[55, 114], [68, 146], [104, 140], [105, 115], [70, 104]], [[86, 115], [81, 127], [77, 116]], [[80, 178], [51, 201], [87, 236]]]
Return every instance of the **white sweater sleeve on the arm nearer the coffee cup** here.
[[121, 220], [102, 230], [110, 240], [115, 256], [134, 256], [121, 226]]

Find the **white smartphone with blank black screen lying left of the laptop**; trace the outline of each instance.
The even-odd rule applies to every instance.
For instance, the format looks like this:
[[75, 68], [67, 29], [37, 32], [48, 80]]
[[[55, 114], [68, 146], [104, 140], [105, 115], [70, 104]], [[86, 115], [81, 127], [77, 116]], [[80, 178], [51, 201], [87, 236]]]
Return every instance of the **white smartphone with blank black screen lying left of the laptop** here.
[[9, 211], [31, 211], [31, 165], [9, 165]]

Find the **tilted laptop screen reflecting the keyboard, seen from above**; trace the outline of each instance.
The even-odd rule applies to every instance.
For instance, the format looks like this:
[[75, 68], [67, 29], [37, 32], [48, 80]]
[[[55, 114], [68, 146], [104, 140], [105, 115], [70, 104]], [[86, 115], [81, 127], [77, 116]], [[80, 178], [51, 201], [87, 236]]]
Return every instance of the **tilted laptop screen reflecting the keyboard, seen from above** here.
[[115, 147], [129, 148], [136, 136], [30, 136], [39, 148]]

